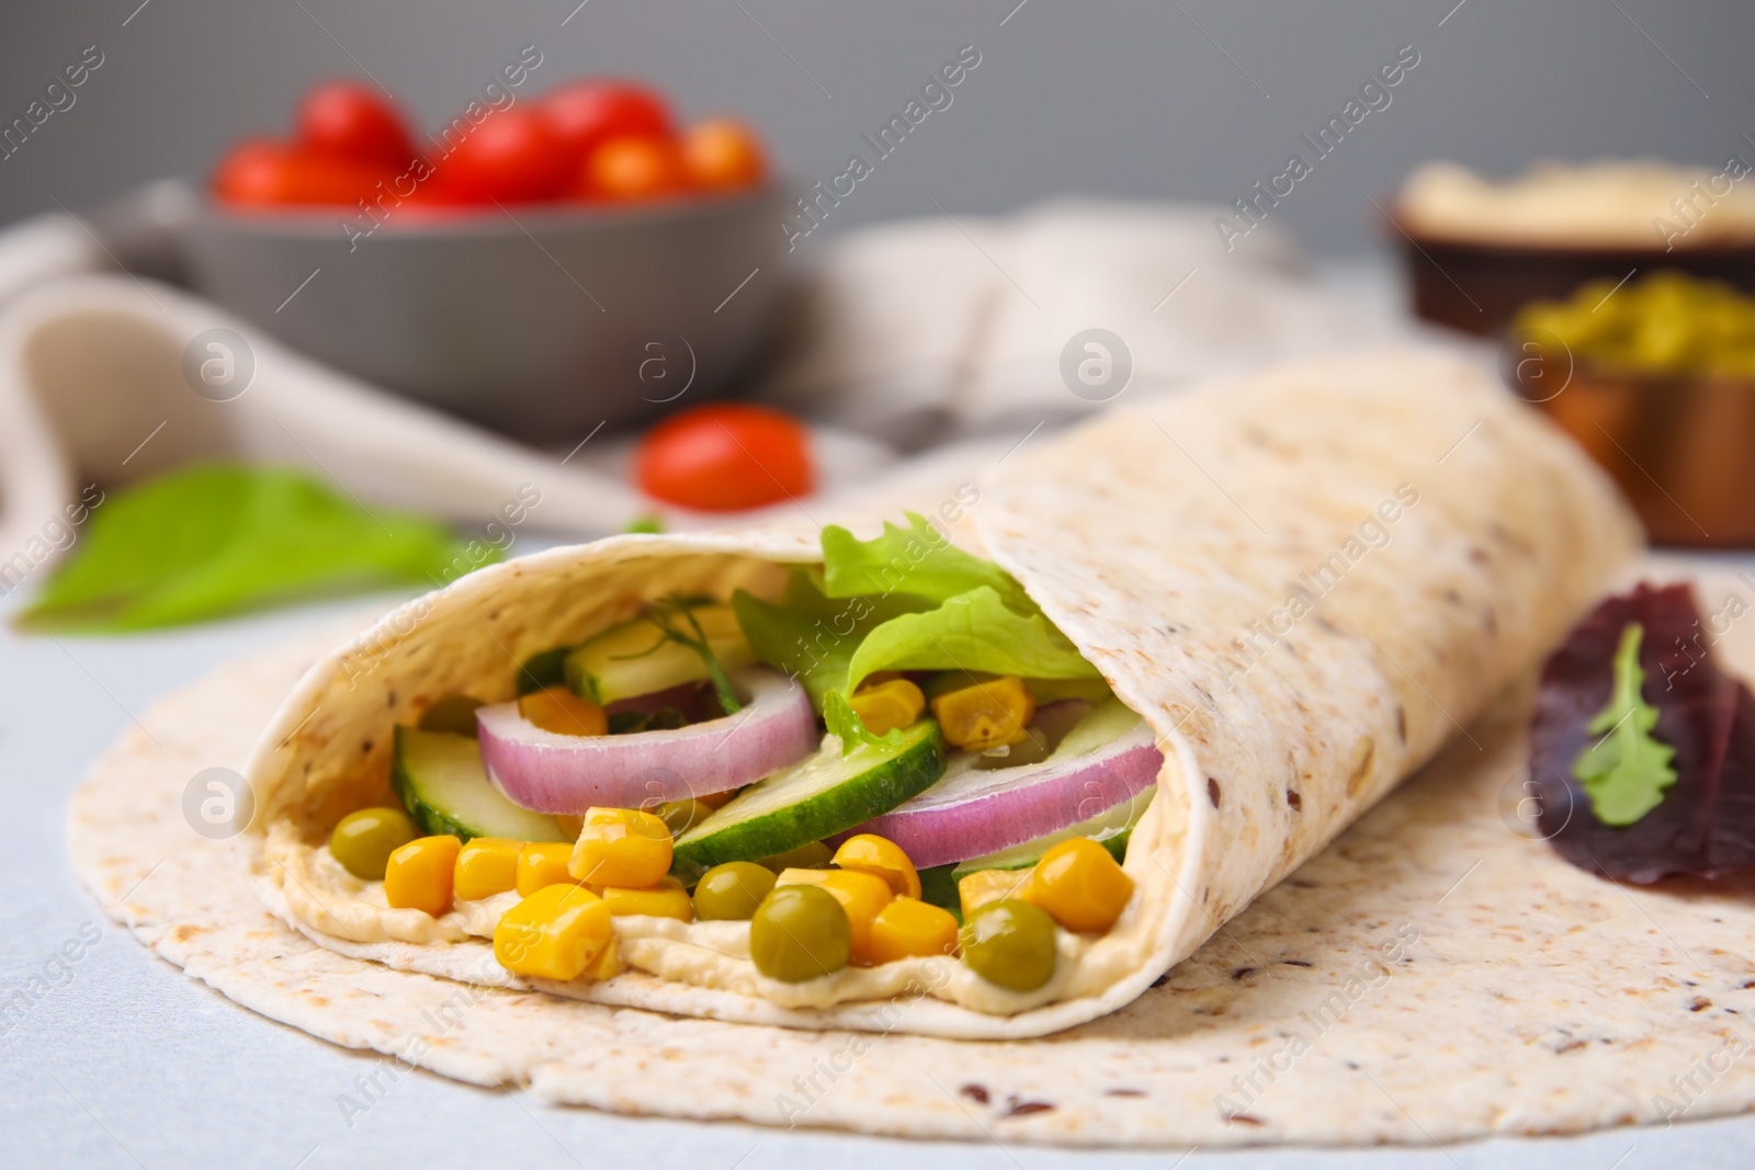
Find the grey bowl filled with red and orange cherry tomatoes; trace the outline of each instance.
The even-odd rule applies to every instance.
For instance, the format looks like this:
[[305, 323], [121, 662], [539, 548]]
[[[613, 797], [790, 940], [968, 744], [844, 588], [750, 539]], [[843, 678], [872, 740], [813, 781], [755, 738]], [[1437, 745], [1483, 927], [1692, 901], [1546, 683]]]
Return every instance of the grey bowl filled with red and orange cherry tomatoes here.
[[[195, 286], [305, 354], [526, 440], [728, 389], [779, 303], [783, 198], [741, 121], [583, 79], [416, 139], [370, 86], [219, 161]], [[688, 395], [684, 400], [683, 396]]]

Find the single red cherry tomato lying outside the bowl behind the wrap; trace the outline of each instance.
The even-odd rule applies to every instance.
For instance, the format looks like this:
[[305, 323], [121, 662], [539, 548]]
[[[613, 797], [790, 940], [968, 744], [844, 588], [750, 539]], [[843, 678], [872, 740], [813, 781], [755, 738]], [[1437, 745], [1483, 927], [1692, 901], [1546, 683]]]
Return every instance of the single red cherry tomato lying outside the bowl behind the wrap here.
[[725, 402], [653, 426], [634, 456], [641, 491], [702, 512], [735, 512], [809, 495], [809, 433], [769, 407]]

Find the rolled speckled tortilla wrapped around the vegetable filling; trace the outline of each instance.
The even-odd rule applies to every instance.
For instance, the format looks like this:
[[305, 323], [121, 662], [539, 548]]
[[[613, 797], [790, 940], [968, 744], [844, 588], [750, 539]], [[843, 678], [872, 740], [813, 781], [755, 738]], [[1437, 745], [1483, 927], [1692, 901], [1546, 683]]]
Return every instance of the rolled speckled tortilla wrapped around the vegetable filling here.
[[[1476, 367], [1418, 351], [1121, 409], [1021, 451], [979, 496], [965, 509], [974, 542], [1164, 753], [1125, 861], [1135, 898], [1106, 935], [1062, 935], [1039, 993], [944, 956], [777, 984], [686, 937], [623, 938], [642, 970], [618, 979], [532, 984], [486, 938], [372, 903], [325, 867], [340, 814], [390, 802], [393, 723], [460, 691], [504, 702], [519, 661], [644, 598], [777, 593], [781, 565], [818, 558], [814, 524], [551, 549], [470, 574], [319, 661], [246, 770], [261, 896], [337, 952], [460, 981], [793, 1028], [1048, 1035], [1130, 1002], [1325, 845], [1557, 642], [1637, 547], [1583, 453]], [[906, 988], [944, 998], [897, 1021]]]

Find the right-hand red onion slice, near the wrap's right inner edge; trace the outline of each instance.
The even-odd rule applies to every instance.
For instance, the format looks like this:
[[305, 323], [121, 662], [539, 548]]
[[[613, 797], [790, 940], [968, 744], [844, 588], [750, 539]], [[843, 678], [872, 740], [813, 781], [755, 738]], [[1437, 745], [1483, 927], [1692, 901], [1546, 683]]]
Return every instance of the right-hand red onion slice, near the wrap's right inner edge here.
[[974, 758], [963, 756], [920, 796], [853, 831], [888, 837], [916, 867], [928, 868], [1078, 824], [1157, 782], [1164, 756], [1146, 721], [1134, 719], [1130, 730], [1081, 756], [993, 770], [976, 768]]

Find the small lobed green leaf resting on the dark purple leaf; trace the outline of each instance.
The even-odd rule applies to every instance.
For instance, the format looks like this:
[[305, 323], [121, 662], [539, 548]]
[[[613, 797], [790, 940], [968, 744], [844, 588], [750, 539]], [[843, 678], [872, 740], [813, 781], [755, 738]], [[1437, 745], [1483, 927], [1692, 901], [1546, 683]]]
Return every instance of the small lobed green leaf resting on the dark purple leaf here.
[[1615, 689], [1609, 705], [1590, 721], [1595, 744], [1578, 754], [1572, 775], [1585, 786], [1590, 809], [1604, 824], [1636, 823], [1664, 802], [1664, 789], [1676, 782], [1671, 760], [1676, 749], [1651, 735], [1657, 707], [1644, 702], [1644, 670], [1639, 668], [1639, 642], [1644, 626], [1637, 621], [1622, 630], [1615, 651]]

